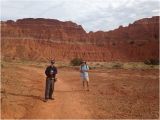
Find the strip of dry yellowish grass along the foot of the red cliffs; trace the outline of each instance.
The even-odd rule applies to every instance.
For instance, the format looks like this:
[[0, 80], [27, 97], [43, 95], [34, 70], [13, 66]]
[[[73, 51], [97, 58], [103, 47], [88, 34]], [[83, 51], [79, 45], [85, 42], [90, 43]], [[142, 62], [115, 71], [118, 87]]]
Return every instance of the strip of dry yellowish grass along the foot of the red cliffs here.
[[[12, 60], [12, 61], [2, 61], [1, 66], [4, 67], [5, 64], [21, 64], [30, 65], [39, 68], [45, 68], [50, 63], [41, 61], [27, 61], [27, 60]], [[58, 68], [77, 68], [72, 66], [69, 61], [56, 61], [55, 65]], [[159, 65], [146, 65], [144, 62], [88, 62], [91, 69], [159, 69]]]

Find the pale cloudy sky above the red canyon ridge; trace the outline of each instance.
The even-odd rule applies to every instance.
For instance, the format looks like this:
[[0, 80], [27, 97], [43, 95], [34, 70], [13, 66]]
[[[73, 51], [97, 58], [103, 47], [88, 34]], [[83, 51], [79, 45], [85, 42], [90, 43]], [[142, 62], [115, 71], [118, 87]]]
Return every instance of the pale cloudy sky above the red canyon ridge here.
[[87, 31], [108, 31], [160, 16], [160, 0], [0, 0], [1, 20], [49, 18], [73, 21]]

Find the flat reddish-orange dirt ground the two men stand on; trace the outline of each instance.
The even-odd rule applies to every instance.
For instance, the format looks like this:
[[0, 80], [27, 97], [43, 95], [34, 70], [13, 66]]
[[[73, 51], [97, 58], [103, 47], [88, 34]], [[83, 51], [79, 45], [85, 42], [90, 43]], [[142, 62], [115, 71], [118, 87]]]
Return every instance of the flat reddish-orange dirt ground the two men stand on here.
[[156, 119], [159, 116], [158, 70], [92, 71], [88, 92], [82, 89], [78, 71], [59, 68], [55, 100], [43, 102], [44, 69], [34, 65], [4, 65], [2, 118]]

